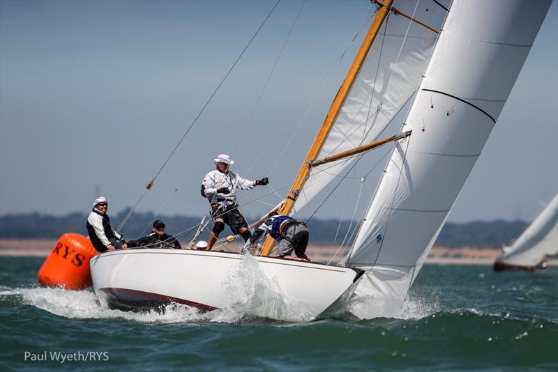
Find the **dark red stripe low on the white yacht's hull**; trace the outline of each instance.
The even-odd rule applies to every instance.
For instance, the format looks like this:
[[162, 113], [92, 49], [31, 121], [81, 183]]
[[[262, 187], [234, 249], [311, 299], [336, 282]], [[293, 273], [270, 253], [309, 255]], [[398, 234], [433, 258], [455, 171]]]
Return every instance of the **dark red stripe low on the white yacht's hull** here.
[[170, 304], [176, 302], [177, 304], [184, 304], [196, 309], [211, 311], [218, 309], [206, 304], [200, 304], [189, 300], [184, 300], [178, 297], [167, 295], [159, 295], [158, 293], [144, 292], [143, 290], [126, 289], [126, 288], [100, 288], [100, 293], [103, 294], [105, 300], [111, 309], [148, 309], [157, 308], [162, 304]]

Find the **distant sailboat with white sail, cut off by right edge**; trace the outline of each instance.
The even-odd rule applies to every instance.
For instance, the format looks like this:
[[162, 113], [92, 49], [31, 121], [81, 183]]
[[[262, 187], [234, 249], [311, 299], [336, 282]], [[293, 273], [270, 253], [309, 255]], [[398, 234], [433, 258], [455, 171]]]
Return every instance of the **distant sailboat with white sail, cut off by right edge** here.
[[558, 194], [498, 262], [529, 268], [541, 263], [547, 254], [558, 254]]

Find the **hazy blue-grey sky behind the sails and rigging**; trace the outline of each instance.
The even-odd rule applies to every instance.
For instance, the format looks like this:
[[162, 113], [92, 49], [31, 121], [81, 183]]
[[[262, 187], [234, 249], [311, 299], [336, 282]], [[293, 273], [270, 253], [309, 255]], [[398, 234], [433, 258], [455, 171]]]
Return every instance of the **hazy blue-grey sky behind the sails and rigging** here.
[[[110, 213], [132, 206], [274, 4], [1, 0], [0, 215], [87, 212], [99, 195]], [[206, 213], [199, 187], [220, 153], [241, 176], [270, 178], [239, 197], [246, 215], [285, 196], [364, 31], [335, 60], [371, 10], [307, 1], [277, 59], [301, 6], [279, 3], [137, 210]], [[530, 221], [558, 192], [557, 40], [554, 1], [448, 221]], [[361, 173], [317, 216], [359, 215]], [[370, 176], [363, 200], [376, 184]]]

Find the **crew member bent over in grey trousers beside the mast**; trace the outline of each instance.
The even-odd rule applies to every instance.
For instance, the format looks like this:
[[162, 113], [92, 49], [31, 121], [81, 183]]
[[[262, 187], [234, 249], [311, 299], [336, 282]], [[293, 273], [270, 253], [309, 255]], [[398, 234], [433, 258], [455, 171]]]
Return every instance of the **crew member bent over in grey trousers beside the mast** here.
[[[306, 224], [284, 215], [274, 215], [266, 219], [246, 242], [244, 249], [256, 247], [258, 240], [268, 232], [271, 238], [277, 241], [277, 256], [288, 260], [311, 261], [306, 256], [306, 247], [310, 238]], [[296, 257], [291, 256], [293, 251]]]

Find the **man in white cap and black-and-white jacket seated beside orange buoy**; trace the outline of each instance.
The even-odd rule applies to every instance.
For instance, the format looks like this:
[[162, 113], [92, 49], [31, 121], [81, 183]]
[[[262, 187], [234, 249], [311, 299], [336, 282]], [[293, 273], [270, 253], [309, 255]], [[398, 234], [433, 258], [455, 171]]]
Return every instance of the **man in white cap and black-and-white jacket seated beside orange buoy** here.
[[100, 252], [128, 247], [122, 235], [116, 233], [110, 225], [109, 215], [107, 215], [108, 203], [108, 199], [103, 196], [95, 199], [93, 210], [89, 213], [86, 223], [89, 239], [91, 239], [93, 247]]

